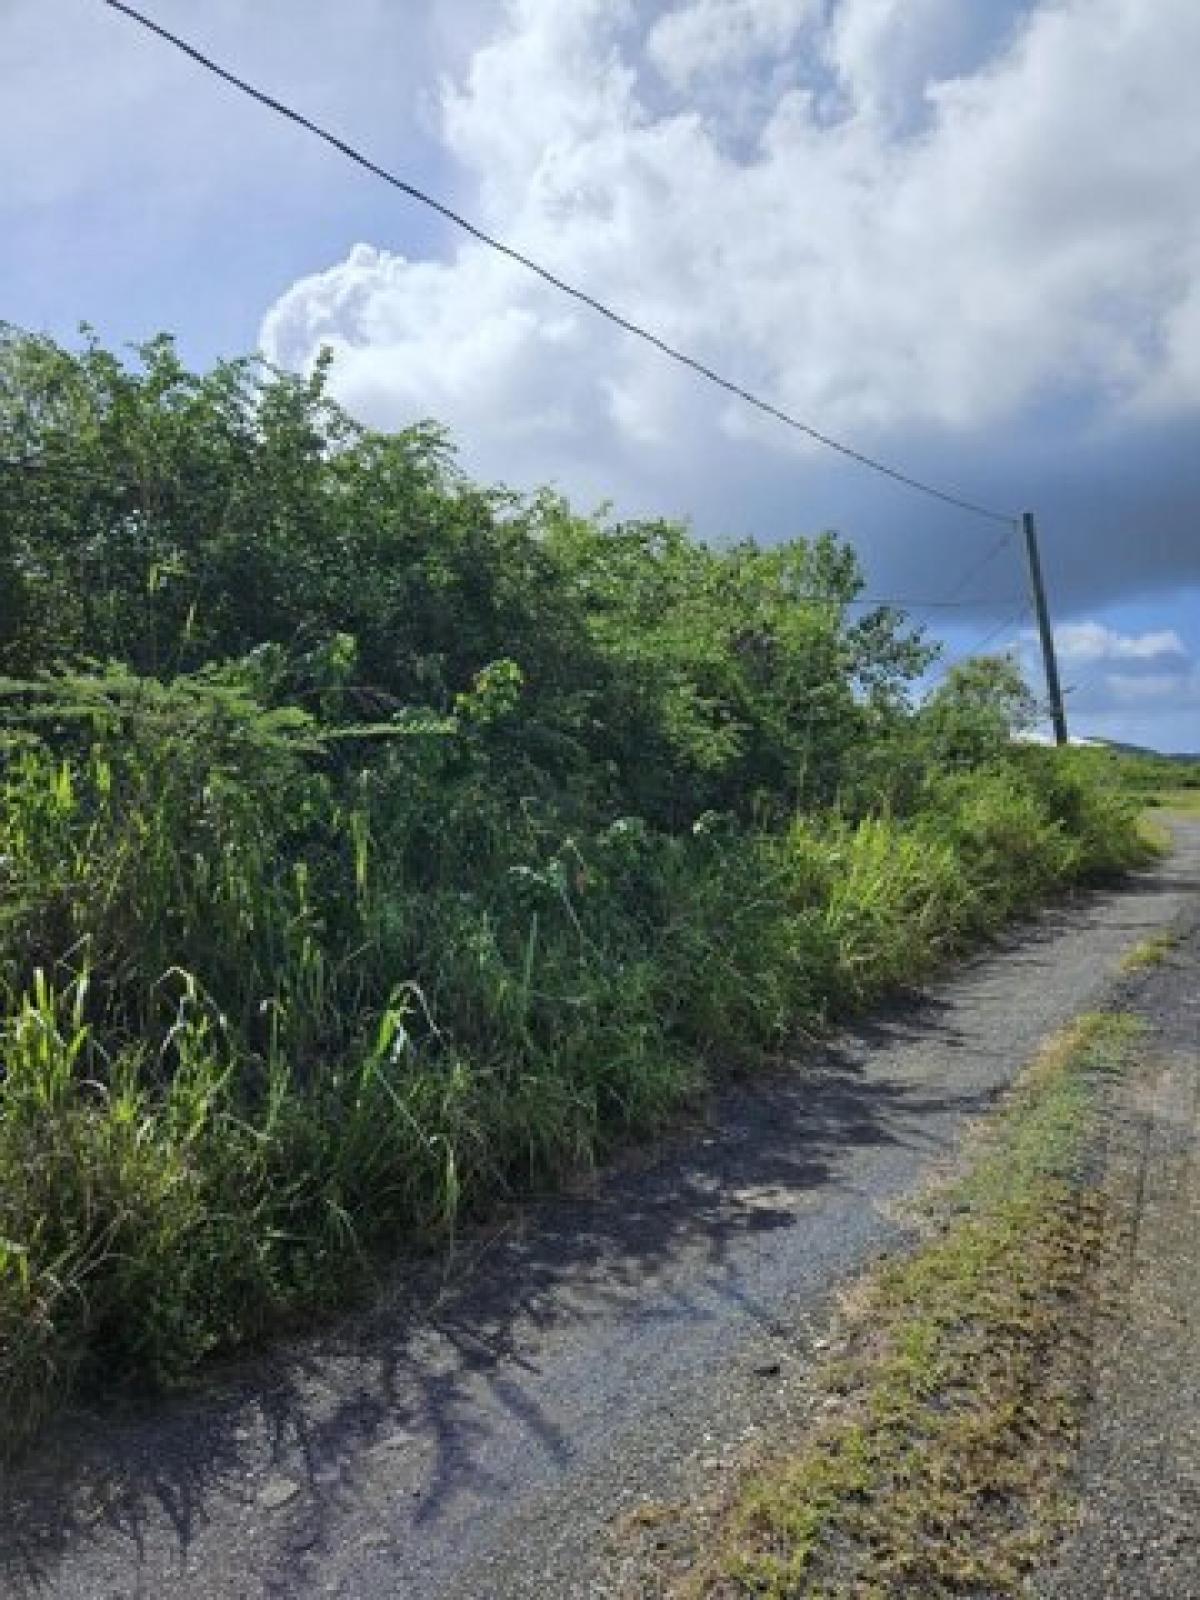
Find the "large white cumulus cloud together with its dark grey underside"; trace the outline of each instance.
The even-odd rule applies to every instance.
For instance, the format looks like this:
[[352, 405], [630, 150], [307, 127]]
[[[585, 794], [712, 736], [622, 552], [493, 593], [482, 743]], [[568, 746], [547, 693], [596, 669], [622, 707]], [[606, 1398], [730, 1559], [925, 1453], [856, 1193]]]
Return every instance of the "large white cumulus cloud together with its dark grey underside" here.
[[[1086, 600], [1200, 578], [1195, 59], [1194, 0], [510, 0], [440, 126], [485, 224], [554, 270], [854, 443], [1042, 493]], [[954, 549], [474, 242], [358, 246], [261, 338], [333, 346], [355, 411], [435, 414], [488, 475], [768, 536], [803, 501], [898, 581], [885, 515], [926, 570]], [[1163, 506], [1122, 466], [1155, 451]]]

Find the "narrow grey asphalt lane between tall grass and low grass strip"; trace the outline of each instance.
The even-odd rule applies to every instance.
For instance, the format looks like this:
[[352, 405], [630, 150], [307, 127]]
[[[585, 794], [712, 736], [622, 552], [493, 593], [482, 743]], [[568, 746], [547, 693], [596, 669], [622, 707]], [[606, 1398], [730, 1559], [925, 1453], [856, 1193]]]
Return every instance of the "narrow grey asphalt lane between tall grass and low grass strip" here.
[[[603, 1595], [605, 1530], [770, 1426], [837, 1288], [1122, 955], [1200, 914], [1200, 824], [704, 1128], [405, 1274], [368, 1318], [144, 1418], [80, 1416], [0, 1496], [0, 1594]], [[782, 1370], [782, 1371], [781, 1371]]]

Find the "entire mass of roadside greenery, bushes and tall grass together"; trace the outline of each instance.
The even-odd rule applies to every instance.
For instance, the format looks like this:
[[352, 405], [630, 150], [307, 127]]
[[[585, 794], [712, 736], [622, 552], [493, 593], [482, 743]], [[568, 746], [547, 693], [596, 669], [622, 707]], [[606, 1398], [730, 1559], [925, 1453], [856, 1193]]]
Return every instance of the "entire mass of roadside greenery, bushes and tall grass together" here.
[[832, 536], [0, 338], [0, 1443], [344, 1301], [1142, 858]]

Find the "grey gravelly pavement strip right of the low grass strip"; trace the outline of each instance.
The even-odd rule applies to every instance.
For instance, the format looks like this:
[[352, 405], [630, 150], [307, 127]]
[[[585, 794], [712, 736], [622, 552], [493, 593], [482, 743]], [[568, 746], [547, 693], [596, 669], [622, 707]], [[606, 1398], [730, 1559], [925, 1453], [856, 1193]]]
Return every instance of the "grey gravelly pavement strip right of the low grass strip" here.
[[1075, 1493], [1078, 1526], [1042, 1600], [1200, 1594], [1200, 934], [1165, 952], [1141, 1006], [1106, 1182], [1125, 1251], [1099, 1330]]

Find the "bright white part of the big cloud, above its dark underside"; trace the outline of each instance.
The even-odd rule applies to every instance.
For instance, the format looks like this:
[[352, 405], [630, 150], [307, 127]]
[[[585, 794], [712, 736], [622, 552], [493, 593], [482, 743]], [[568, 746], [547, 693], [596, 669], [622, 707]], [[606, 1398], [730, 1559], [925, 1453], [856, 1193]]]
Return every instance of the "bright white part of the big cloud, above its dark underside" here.
[[[806, 3], [691, 0], [645, 35], [629, 3], [514, 0], [443, 90], [445, 139], [507, 238], [829, 429], [971, 430], [1061, 395], [1200, 405], [1200, 8], [1043, 0], [976, 70], [938, 78], [944, 16], [946, 0], [842, 0], [832, 24]], [[794, 53], [802, 24], [837, 115], [792, 86], [731, 150], [720, 93], [741, 101], [747, 62]], [[653, 107], [648, 58], [677, 83], [706, 72], [706, 99]], [[920, 99], [918, 136], [880, 117], [896, 96]], [[514, 413], [592, 461], [749, 426], [469, 242], [440, 264], [355, 251], [293, 285], [262, 342], [302, 362], [318, 330], [352, 405], [438, 411], [483, 459]]]

